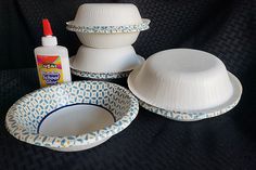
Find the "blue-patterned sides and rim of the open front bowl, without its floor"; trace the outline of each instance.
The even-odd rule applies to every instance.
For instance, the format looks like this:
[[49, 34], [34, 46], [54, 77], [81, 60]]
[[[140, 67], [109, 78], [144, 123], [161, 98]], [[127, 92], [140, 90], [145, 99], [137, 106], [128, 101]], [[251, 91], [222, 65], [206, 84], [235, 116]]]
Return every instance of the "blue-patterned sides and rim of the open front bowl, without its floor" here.
[[[50, 113], [54, 115], [55, 110], [76, 104], [102, 107], [113, 115], [115, 121], [104, 128], [76, 135], [53, 136], [39, 132], [38, 127], [47, 120]], [[95, 146], [126, 129], [138, 110], [137, 99], [120, 86], [103, 81], [74, 81], [43, 88], [23, 96], [9, 109], [5, 127], [14, 138], [29, 144], [57, 151], [80, 151]]]

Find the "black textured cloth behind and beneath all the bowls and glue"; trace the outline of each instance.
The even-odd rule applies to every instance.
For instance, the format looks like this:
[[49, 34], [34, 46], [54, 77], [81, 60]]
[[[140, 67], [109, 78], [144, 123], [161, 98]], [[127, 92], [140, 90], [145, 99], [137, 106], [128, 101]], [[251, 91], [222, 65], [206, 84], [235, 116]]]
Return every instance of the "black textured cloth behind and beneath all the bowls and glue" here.
[[80, 42], [65, 29], [65, 22], [84, 2], [98, 1], [0, 2], [0, 169], [256, 169], [255, 0], [100, 1], [132, 2], [142, 17], [151, 18], [151, 28], [135, 43], [144, 57], [165, 49], [194, 48], [222, 60], [243, 84], [241, 102], [231, 112], [199, 122], [177, 122], [140, 108], [127, 130], [78, 153], [52, 152], [8, 134], [8, 108], [38, 88], [36, 70], [24, 68], [36, 66], [41, 18], [50, 19], [59, 43], [74, 55]]

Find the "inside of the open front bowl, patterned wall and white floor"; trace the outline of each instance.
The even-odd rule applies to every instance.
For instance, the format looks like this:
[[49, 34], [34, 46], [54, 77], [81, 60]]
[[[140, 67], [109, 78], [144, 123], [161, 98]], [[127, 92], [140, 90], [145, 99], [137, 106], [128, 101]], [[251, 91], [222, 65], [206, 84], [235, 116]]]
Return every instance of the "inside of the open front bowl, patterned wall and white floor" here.
[[126, 90], [101, 81], [77, 81], [27, 94], [12, 107], [27, 133], [78, 135], [121, 119], [132, 105]]

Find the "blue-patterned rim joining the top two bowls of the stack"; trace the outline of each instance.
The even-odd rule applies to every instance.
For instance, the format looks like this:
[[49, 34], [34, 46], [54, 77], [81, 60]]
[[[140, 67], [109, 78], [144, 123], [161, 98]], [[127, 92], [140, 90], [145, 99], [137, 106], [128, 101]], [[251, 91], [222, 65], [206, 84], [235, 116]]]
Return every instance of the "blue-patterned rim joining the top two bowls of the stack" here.
[[142, 18], [142, 23], [135, 25], [120, 25], [120, 26], [82, 26], [76, 25], [75, 21], [66, 22], [66, 29], [84, 34], [127, 34], [138, 32], [150, 28], [151, 21]]

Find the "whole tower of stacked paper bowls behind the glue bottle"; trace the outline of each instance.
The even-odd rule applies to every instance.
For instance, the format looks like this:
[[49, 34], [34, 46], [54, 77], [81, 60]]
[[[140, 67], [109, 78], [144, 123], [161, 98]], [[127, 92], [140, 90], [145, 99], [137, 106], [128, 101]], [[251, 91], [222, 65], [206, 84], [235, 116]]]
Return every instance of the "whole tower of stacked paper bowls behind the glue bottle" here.
[[98, 79], [127, 77], [143, 62], [131, 44], [140, 31], [149, 29], [149, 24], [150, 21], [141, 18], [133, 4], [80, 5], [75, 19], [67, 22], [66, 27], [75, 31], [82, 43], [71, 61], [72, 73]]

